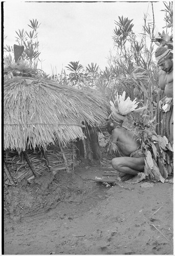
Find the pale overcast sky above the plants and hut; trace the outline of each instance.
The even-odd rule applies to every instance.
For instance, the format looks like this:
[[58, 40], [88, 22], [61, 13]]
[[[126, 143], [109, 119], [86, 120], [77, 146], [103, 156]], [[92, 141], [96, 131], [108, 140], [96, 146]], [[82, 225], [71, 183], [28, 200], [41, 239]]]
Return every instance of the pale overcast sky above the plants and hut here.
[[[155, 33], [163, 31], [164, 4], [154, 2]], [[118, 16], [133, 19], [133, 31], [142, 33], [144, 14], [152, 21], [150, 2], [16, 2], [4, 3], [4, 44], [16, 44], [15, 31], [30, 32], [30, 19], [37, 19], [41, 63], [38, 68], [47, 74], [68, 70], [70, 61], [79, 61], [85, 68], [91, 62], [100, 69], [107, 66], [110, 52], [115, 53], [113, 30]]]

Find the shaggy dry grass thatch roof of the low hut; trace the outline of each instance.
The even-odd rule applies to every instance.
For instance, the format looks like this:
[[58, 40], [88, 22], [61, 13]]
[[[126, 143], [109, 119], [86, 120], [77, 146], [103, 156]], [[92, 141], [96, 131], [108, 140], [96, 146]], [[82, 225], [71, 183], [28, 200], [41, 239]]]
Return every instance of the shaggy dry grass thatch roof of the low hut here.
[[63, 145], [83, 138], [82, 121], [100, 125], [105, 102], [50, 80], [15, 77], [4, 82], [4, 150], [45, 147], [55, 136]]

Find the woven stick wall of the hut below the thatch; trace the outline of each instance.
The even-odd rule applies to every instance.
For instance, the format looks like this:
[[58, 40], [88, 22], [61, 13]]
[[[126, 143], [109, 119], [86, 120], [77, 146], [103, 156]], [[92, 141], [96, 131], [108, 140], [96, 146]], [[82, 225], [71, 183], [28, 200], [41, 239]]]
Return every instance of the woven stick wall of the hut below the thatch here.
[[[25, 153], [28, 156], [34, 172], [38, 176], [42, 175], [45, 170], [50, 170], [54, 175], [59, 172], [59, 170], [71, 171], [74, 168], [74, 162], [77, 157], [76, 147], [73, 142], [70, 143], [68, 147], [65, 147], [63, 152], [59, 146], [51, 144], [47, 147], [46, 152], [36, 149], [35, 151], [27, 150]], [[5, 151], [4, 160], [14, 183], [20, 182], [23, 179], [34, 178], [32, 169], [23, 152], [18, 154], [17, 151]], [[12, 185], [11, 183], [5, 173], [4, 184]]]

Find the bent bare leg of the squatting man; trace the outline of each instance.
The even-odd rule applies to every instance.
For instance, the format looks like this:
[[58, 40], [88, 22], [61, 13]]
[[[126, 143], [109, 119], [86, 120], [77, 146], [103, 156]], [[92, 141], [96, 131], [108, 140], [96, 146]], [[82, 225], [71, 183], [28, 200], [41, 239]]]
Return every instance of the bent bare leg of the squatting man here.
[[112, 159], [111, 163], [113, 168], [118, 170], [118, 172], [132, 175], [143, 172], [145, 166], [144, 157], [116, 157]]

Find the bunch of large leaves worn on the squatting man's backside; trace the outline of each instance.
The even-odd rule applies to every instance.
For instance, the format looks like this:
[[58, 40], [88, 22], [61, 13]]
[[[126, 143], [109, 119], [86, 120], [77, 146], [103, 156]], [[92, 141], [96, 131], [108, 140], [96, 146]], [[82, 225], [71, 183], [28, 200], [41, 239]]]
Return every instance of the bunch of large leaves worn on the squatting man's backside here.
[[168, 139], [158, 135], [154, 129], [154, 122], [147, 125], [137, 124], [134, 131], [145, 154], [145, 175], [153, 181], [161, 181], [172, 173], [173, 148]]

